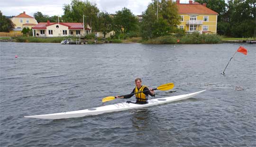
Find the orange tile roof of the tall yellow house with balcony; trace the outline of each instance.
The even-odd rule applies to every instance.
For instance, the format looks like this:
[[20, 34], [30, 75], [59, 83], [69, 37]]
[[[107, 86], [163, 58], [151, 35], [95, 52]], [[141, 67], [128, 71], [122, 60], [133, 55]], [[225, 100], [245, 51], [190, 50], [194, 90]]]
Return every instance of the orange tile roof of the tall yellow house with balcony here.
[[199, 3], [193, 4], [177, 4], [179, 14], [210, 14], [217, 15], [218, 13], [207, 8]]

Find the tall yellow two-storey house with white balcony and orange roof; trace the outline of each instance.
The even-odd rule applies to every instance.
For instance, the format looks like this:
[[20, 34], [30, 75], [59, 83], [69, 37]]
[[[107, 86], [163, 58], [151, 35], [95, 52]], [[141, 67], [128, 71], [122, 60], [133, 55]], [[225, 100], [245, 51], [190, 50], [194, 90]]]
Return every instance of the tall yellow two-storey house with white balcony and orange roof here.
[[176, 0], [176, 4], [181, 16], [180, 29], [186, 33], [217, 33], [218, 13], [207, 8], [206, 3], [201, 5], [189, 0], [188, 4], [181, 4], [180, 0]]

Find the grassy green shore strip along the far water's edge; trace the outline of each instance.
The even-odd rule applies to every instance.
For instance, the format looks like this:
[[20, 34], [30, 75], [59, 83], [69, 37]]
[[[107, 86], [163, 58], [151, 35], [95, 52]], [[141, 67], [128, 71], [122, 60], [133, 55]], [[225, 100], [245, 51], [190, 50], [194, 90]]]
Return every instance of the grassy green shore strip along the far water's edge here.
[[[0, 42], [37, 42], [37, 43], [61, 43], [65, 37], [36, 38], [36, 37], [0, 37]], [[76, 40], [75, 37], [72, 38]], [[255, 38], [251, 38], [255, 40]], [[222, 38], [219, 35], [184, 35], [183, 37], [161, 36], [155, 39], [142, 40], [141, 37], [128, 39], [94, 39], [81, 40], [81, 44], [102, 43], [143, 43], [143, 44], [214, 44], [214, 43], [246, 43], [247, 38]]]

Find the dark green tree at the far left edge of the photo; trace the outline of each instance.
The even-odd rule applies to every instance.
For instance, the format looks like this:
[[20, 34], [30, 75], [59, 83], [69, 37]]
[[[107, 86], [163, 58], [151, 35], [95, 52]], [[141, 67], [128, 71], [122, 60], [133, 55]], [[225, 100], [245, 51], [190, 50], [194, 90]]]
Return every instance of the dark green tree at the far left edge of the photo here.
[[14, 27], [15, 24], [13, 24], [9, 18], [2, 15], [2, 12], [0, 11], [0, 32], [9, 32], [10, 30], [14, 29]]

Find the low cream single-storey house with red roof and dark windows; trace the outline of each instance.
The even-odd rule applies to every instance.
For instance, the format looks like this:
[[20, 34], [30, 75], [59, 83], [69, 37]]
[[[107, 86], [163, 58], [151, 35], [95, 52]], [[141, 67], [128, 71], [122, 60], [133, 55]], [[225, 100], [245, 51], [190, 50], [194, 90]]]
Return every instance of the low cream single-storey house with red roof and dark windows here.
[[[91, 28], [83, 27], [83, 23], [39, 23], [32, 27], [33, 36], [35, 37], [61, 37], [61, 36], [77, 36], [91, 33]], [[84, 32], [83, 32], [84, 30]]]

